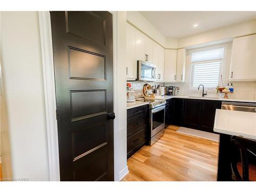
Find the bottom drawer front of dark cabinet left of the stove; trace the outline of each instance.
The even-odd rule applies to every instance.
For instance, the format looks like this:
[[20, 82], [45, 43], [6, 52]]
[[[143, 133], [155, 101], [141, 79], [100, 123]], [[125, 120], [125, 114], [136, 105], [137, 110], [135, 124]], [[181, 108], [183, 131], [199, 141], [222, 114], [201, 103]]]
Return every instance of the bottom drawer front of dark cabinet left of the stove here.
[[142, 129], [132, 137], [127, 139], [127, 154], [134, 150], [139, 145], [144, 144], [146, 141], [146, 130]]

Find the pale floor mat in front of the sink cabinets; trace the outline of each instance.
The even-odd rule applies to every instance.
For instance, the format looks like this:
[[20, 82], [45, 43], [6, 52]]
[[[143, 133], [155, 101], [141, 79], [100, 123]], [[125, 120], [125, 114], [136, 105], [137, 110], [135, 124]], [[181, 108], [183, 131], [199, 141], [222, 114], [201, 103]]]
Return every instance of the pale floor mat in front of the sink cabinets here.
[[189, 129], [183, 126], [181, 126], [176, 132], [217, 142], [219, 142], [220, 139], [220, 136], [218, 134]]

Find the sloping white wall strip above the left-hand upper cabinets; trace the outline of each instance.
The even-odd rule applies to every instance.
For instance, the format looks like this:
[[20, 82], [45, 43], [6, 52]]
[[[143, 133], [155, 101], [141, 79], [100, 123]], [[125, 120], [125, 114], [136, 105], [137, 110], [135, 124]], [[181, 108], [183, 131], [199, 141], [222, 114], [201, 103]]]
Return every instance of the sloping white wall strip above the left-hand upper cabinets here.
[[143, 17], [138, 11], [127, 11], [127, 22], [134, 27], [151, 37], [164, 48], [166, 47], [166, 38], [160, 33], [148, 20]]

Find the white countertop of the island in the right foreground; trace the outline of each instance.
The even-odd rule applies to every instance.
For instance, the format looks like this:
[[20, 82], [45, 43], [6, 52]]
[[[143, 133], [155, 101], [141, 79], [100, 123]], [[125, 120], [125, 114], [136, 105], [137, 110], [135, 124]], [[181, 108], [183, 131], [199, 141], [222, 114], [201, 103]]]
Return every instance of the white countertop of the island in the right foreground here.
[[214, 131], [256, 139], [256, 113], [217, 109]]

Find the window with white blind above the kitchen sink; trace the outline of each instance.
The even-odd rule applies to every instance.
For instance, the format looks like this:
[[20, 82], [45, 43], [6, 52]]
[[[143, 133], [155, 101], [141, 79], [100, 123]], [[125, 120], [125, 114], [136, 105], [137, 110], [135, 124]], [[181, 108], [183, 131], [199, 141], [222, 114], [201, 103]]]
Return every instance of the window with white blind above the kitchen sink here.
[[191, 53], [190, 89], [196, 90], [200, 84], [205, 89], [214, 90], [220, 79], [224, 47]]

